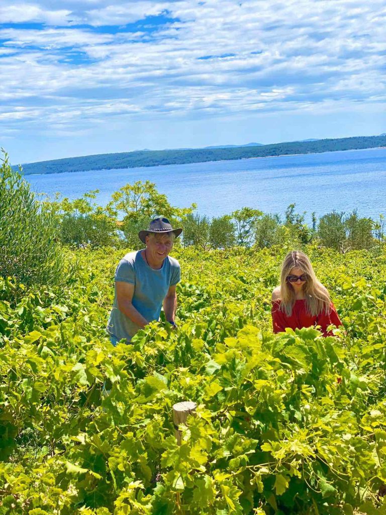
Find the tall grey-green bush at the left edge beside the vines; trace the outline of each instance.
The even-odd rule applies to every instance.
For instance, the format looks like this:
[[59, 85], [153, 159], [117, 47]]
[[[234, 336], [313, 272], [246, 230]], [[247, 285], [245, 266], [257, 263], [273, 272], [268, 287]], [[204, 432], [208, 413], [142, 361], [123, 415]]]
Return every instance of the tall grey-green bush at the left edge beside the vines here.
[[0, 276], [26, 285], [58, 284], [63, 256], [56, 215], [39, 202], [4, 153], [0, 167]]

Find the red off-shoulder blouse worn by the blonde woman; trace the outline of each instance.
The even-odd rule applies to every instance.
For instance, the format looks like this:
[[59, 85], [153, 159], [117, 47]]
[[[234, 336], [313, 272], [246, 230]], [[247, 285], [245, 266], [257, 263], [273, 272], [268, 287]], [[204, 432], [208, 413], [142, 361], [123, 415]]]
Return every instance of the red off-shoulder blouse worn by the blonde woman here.
[[327, 327], [331, 324], [342, 325], [334, 304], [330, 304], [330, 311], [326, 314], [324, 311], [319, 315], [312, 316], [306, 311], [306, 301], [296, 300], [292, 308], [292, 313], [288, 317], [280, 310], [281, 300], [272, 301], [272, 324], [274, 333], [282, 333], [289, 327], [293, 330], [302, 327], [312, 327], [312, 325], [320, 325], [323, 336], [332, 336], [332, 332], [327, 332]]

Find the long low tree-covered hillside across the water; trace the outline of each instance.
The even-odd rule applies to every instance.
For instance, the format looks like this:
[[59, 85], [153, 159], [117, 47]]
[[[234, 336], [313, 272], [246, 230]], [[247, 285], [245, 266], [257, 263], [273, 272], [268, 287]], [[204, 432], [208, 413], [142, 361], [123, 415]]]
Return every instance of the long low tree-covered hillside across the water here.
[[386, 146], [386, 135], [358, 136], [355, 138], [340, 138], [334, 140], [297, 141], [252, 147], [199, 148], [188, 150], [140, 150], [135, 152], [98, 154], [94, 156], [29, 163], [23, 165], [23, 170], [25, 175], [58, 174], [68, 171], [200, 163], [207, 161], [286, 156], [290, 154], [331, 152], [336, 150], [354, 150], [383, 146]]

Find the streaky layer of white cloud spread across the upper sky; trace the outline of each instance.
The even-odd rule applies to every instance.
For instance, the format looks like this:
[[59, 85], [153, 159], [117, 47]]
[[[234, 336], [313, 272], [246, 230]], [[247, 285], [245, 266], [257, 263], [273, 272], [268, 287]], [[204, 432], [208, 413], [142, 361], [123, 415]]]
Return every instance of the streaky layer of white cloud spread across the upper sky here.
[[[150, 32], [143, 24], [119, 29], [165, 11], [177, 21]], [[384, 99], [384, 0], [55, 0], [16, 3], [6, 15], [52, 25], [0, 30], [0, 99], [8, 102], [0, 121], [18, 127], [39, 130], [44, 120], [45, 129], [60, 122], [66, 130], [118, 116], [334, 109]]]

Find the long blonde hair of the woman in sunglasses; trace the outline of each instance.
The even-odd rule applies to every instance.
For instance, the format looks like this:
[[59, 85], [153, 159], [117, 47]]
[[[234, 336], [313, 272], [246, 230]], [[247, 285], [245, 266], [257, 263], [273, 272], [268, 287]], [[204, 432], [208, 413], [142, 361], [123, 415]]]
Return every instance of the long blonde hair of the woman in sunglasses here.
[[292, 268], [300, 268], [302, 273], [307, 274], [307, 281], [303, 286], [307, 312], [312, 316], [319, 315], [323, 311], [328, 313], [331, 302], [328, 291], [315, 276], [308, 256], [297, 250], [289, 252], [283, 261], [280, 274], [280, 297], [282, 299], [280, 310], [290, 316], [295, 304], [295, 291], [287, 281]]

